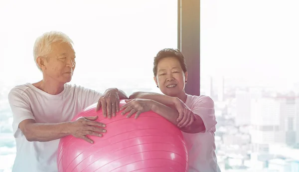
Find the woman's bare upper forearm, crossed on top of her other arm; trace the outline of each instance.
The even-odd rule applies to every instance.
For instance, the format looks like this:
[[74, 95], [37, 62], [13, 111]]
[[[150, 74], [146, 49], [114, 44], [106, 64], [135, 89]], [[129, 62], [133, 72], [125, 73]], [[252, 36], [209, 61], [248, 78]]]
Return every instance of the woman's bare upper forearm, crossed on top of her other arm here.
[[153, 93], [153, 92], [135, 92], [133, 93], [129, 99], [136, 99], [136, 98], [141, 98], [141, 99], [149, 99], [153, 100], [156, 102], [159, 102], [163, 105], [166, 106], [172, 106], [173, 105], [173, 97], [162, 95], [159, 93]]

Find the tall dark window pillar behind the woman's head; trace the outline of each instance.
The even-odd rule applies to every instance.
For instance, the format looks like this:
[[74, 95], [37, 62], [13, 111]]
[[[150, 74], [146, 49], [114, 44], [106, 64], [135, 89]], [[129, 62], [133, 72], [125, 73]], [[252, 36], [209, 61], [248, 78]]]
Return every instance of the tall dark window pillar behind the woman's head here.
[[200, 95], [200, 0], [178, 0], [178, 49], [186, 58], [187, 94]]

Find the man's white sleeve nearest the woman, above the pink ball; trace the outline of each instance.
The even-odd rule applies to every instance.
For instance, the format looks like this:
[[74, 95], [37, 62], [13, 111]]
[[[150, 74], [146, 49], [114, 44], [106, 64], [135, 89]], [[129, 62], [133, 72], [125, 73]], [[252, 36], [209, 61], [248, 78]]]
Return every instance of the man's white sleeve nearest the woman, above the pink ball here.
[[85, 109], [88, 106], [97, 103], [100, 97], [103, 95], [102, 93], [97, 92], [96, 90], [88, 89], [82, 86], [78, 86], [77, 89], [78, 101], [80, 102], [82, 109]]

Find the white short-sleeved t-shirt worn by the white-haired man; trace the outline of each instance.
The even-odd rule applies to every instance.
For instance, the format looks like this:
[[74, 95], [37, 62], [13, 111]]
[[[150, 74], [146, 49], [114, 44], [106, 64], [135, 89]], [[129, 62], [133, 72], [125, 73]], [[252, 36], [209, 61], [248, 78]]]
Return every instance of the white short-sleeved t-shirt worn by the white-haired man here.
[[12, 110], [12, 129], [16, 140], [16, 157], [12, 172], [57, 172], [56, 152], [59, 139], [28, 142], [18, 128], [21, 121], [61, 123], [98, 101], [102, 94], [81, 86], [65, 84], [58, 95], [48, 94], [30, 83], [12, 88], [8, 101]]

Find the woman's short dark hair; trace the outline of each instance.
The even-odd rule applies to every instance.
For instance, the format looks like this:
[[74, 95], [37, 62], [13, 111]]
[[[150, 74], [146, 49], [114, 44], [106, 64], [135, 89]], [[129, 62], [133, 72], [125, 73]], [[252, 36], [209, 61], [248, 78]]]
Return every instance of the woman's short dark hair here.
[[183, 69], [184, 72], [187, 72], [187, 65], [185, 62], [185, 57], [184, 55], [180, 52], [179, 49], [172, 49], [172, 48], [165, 48], [160, 50], [157, 55], [154, 57], [153, 59], [153, 75], [156, 76], [157, 75], [157, 65], [159, 63], [159, 61], [162, 58], [165, 57], [174, 57], [179, 61], [179, 64], [181, 65], [181, 68]]

